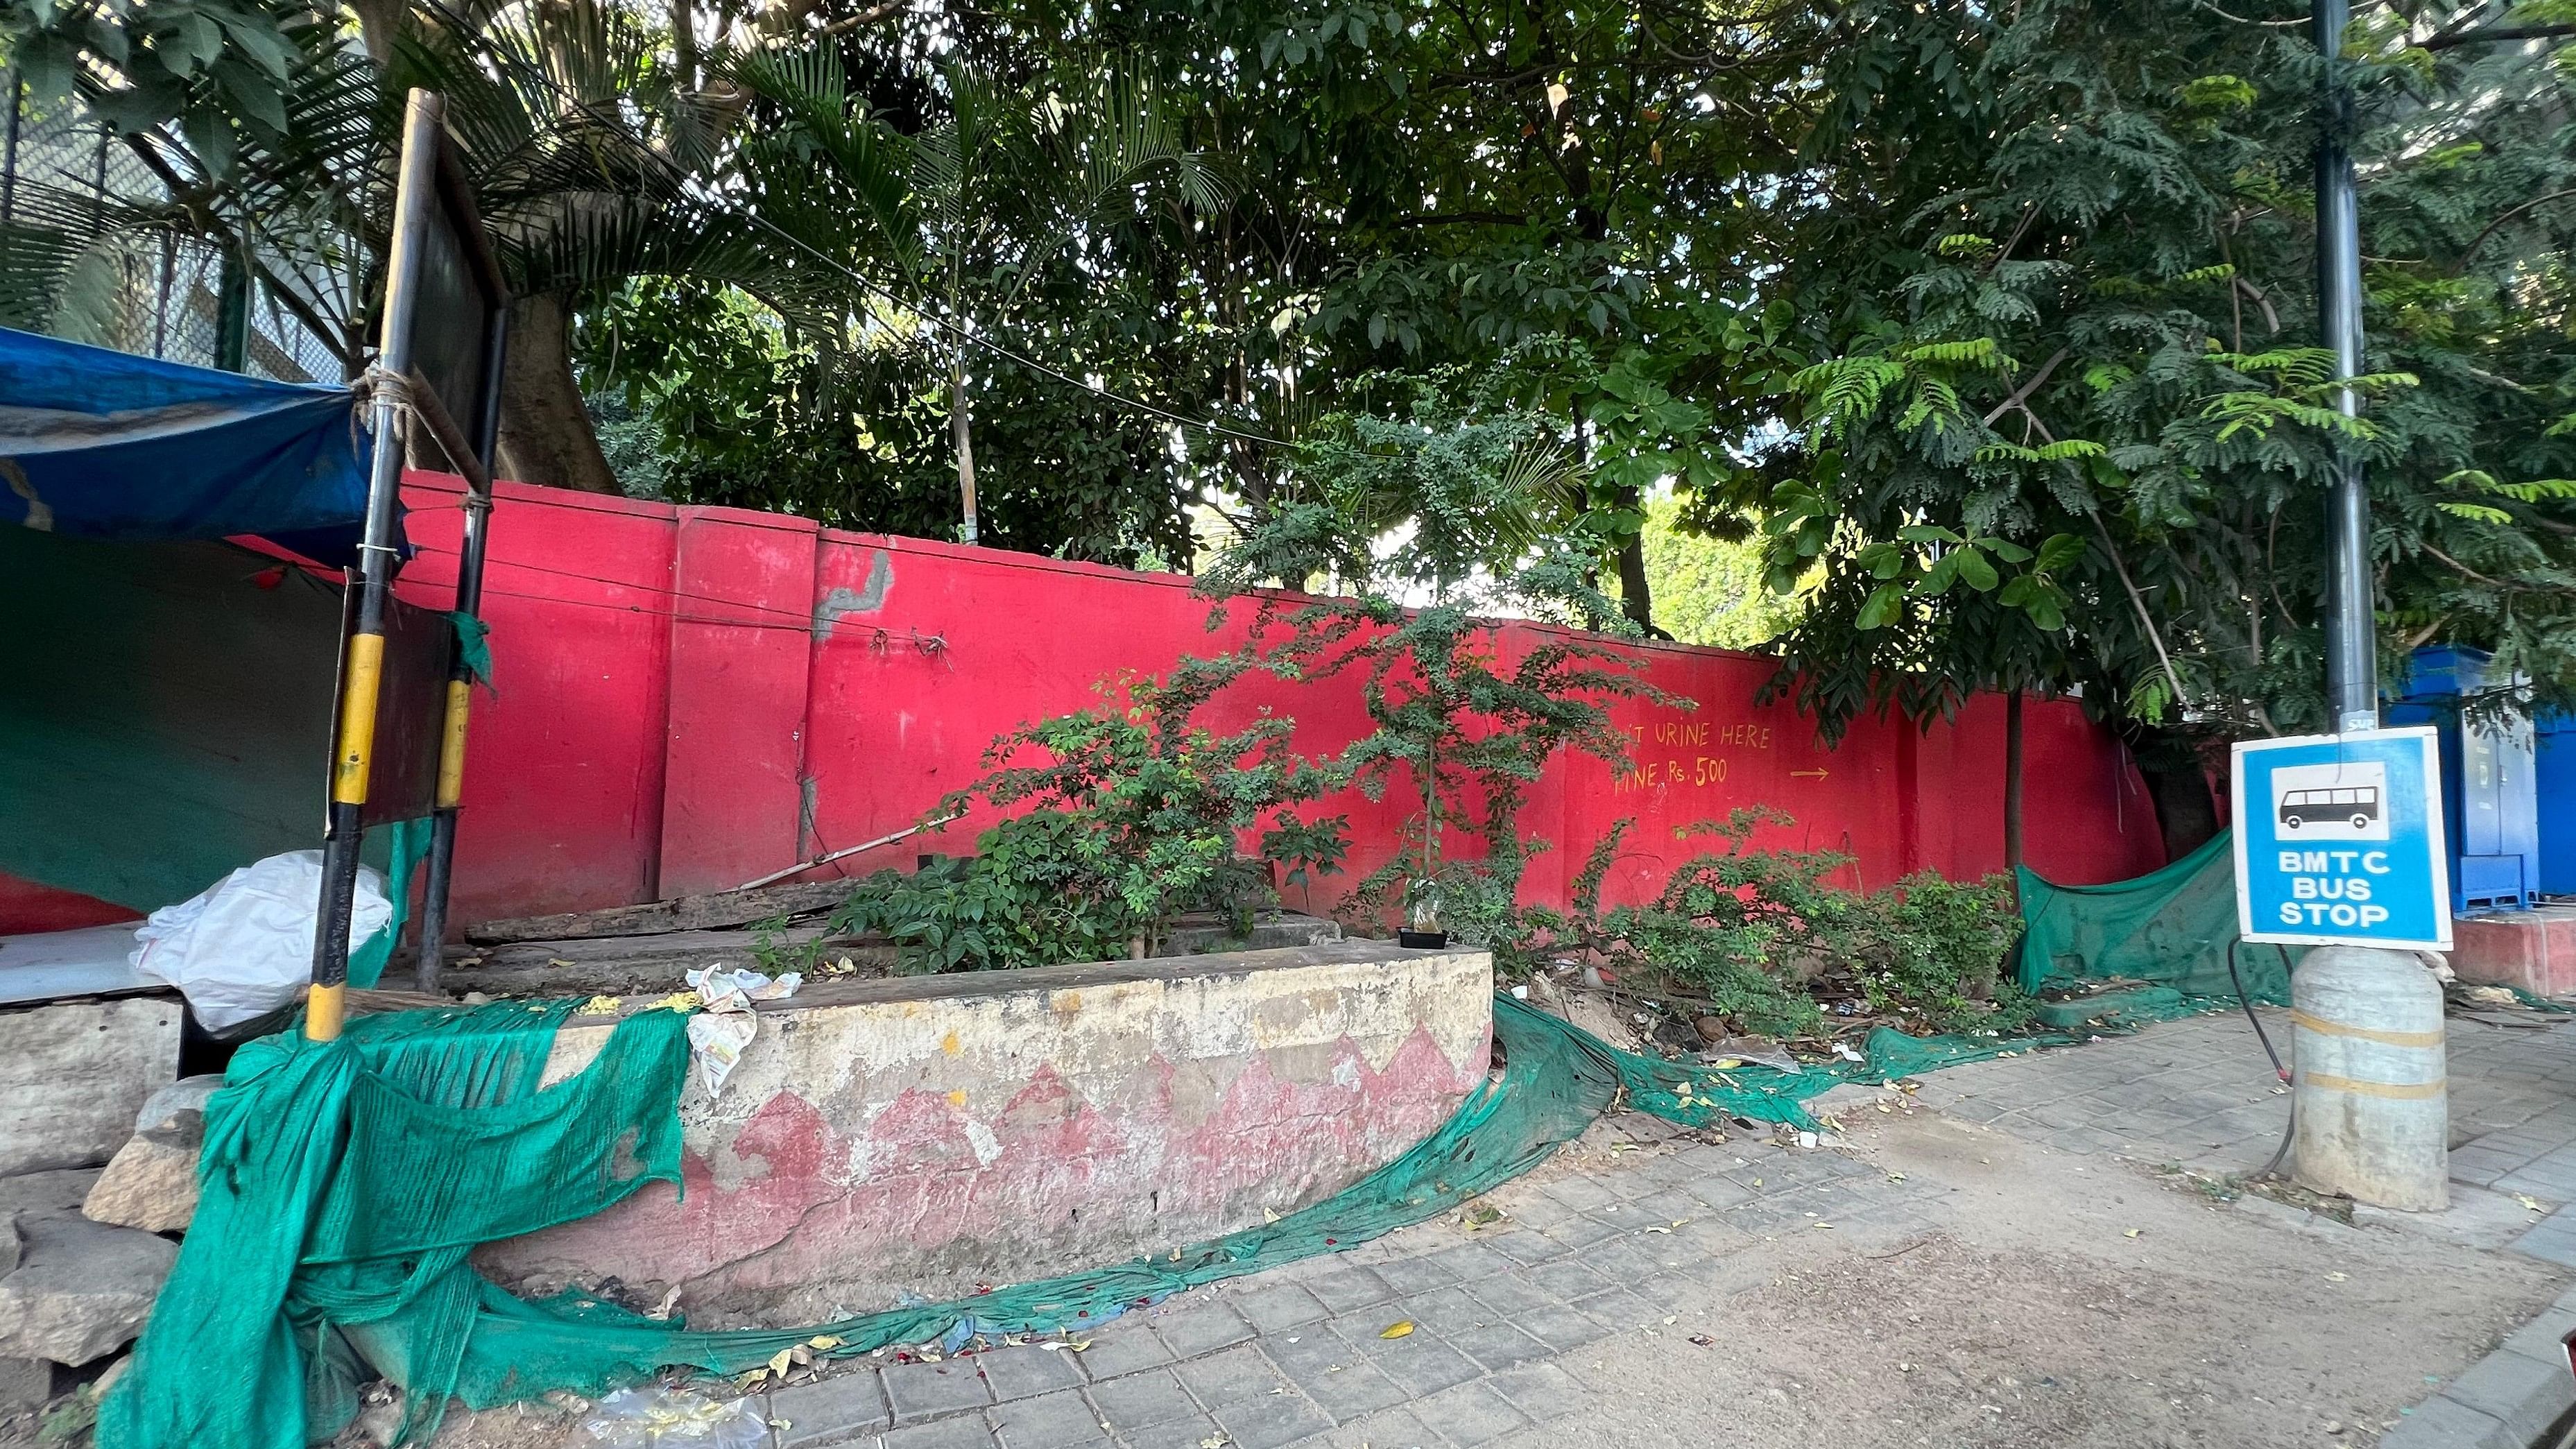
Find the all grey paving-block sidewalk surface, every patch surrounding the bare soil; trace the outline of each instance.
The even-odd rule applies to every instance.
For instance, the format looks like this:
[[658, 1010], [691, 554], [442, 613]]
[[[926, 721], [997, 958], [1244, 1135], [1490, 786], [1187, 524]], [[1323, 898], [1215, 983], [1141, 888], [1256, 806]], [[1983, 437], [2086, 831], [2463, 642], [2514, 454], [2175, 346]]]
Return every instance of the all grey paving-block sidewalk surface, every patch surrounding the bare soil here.
[[[2287, 1016], [2267, 1013], [2267, 1029], [2287, 1049]], [[1924, 1078], [1917, 1101], [2048, 1150], [2215, 1173], [2269, 1155], [2287, 1111], [2275, 1088], [2244, 1016], [2202, 1016], [1953, 1067]], [[2460, 1189], [2530, 1191], [2543, 1204], [2576, 1196], [2571, 1088], [2576, 1029], [2455, 1024]], [[1512, 1183], [1492, 1199], [1510, 1220], [1486, 1232], [1422, 1225], [1182, 1294], [1097, 1328], [1079, 1354], [1020, 1346], [778, 1390], [768, 1403], [783, 1421], [775, 1449], [1546, 1444], [1551, 1423], [1587, 1405], [1582, 1369], [1602, 1341], [1687, 1341], [1687, 1305], [1744, 1274], [1765, 1240], [1775, 1263], [1795, 1256], [1798, 1235], [1824, 1230], [1837, 1248], [1875, 1256], [1878, 1245], [1904, 1248], [1942, 1225], [1932, 1189], [1860, 1155], [1741, 1132], [1672, 1147]], [[2555, 1222], [2530, 1227], [2524, 1248], [2576, 1263], [2576, 1230], [2558, 1238]], [[2576, 1294], [2553, 1312], [2576, 1328]], [[2524, 1428], [2509, 1415], [2522, 1405], [2517, 1392], [2530, 1397], [2535, 1343], [2550, 1323], [2543, 1315], [2506, 1343], [2522, 1359], [2501, 1369], [2524, 1379], [2491, 1372], [2494, 1382], [2481, 1385], [2476, 1372], [2463, 1374], [2409, 1426], [2447, 1436], [2416, 1434], [2409, 1444], [2522, 1449], [2527, 1439], [2504, 1436]], [[1409, 1330], [1388, 1338], [1396, 1325]]]

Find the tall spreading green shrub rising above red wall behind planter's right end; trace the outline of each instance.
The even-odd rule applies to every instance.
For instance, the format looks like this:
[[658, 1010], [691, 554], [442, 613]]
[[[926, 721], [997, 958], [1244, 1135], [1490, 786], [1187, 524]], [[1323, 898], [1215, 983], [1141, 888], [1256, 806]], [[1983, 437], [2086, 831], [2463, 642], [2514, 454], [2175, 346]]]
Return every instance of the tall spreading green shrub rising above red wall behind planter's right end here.
[[1589, 580], [1597, 539], [1571, 511], [1579, 469], [1548, 418], [1461, 405], [1414, 382], [1409, 418], [1319, 425], [1298, 495], [1221, 554], [1203, 590], [1236, 598], [1270, 580], [1340, 590], [1260, 598], [1249, 652], [1288, 678], [1355, 676], [1370, 732], [1337, 768], [1370, 799], [1394, 789], [1419, 799], [1399, 853], [1360, 879], [1350, 910], [1401, 908], [1417, 928], [1512, 949], [1520, 877], [1546, 848], [1517, 825], [1540, 771], [1561, 750], [1625, 766], [1610, 701], [1690, 701], [1600, 639], [1504, 639], [1504, 616], [1636, 629]]

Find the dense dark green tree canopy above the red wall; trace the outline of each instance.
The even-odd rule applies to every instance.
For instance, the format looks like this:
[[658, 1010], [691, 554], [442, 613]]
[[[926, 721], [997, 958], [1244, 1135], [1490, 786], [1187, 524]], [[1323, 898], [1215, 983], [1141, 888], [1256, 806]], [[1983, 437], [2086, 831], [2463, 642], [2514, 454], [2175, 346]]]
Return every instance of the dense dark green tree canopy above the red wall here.
[[[1543, 441], [1512, 547], [1775, 647], [1826, 732], [2079, 691], [2197, 771], [2195, 740], [2324, 724], [2324, 477], [2357, 449], [2388, 670], [2463, 642], [2576, 704], [2576, 8], [2372, 5], [2331, 62], [2306, 18], [0, 0], [28, 95], [170, 178], [28, 191], [0, 309], [46, 325], [118, 229], [180, 229], [312, 258], [258, 284], [358, 366], [399, 88], [440, 85], [541, 482], [930, 536], [971, 482], [987, 544], [1190, 567], [1193, 511], [1365, 508], [1347, 480], [1435, 420]], [[2357, 423], [2316, 345], [2329, 64]]]

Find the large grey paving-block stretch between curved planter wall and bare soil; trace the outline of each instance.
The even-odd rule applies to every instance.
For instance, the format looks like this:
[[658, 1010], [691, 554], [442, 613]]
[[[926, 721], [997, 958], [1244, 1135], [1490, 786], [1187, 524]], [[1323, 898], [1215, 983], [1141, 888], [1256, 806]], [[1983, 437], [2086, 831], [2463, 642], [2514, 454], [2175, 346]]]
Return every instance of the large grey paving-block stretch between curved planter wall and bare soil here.
[[1079, 1354], [1020, 1346], [778, 1390], [778, 1444], [1466, 1449], [1577, 1410], [1556, 1359], [1687, 1336], [1677, 1305], [1757, 1235], [1929, 1225], [1917, 1189], [1868, 1163], [1741, 1140], [1504, 1191], [1512, 1217], [1489, 1235], [1394, 1232], [1131, 1312]]

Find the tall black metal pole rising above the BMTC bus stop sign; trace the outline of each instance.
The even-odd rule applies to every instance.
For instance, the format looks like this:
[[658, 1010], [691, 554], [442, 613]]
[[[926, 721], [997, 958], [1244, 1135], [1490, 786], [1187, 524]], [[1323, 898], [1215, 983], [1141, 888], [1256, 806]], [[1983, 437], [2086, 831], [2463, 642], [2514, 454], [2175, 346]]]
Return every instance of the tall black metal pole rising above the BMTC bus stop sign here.
[[[2354, 103], [2344, 70], [2349, 0], [2316, 0], [2316, 49], [2324, 52], [2326, 93], [2316, 137], [2316, 317], [2334, 374], [2362, 371], [2362, 219], [2352, 186]], [[2339, 389], [2344, 418], [2360, 415], [2360, 397]], [[2370, 588], [2370, 490], [2352, 438], [2336, 441], [2334, 480], [2326, 487], [2326, 712], [2334, 730], [2378, 730], [2378, 608]]]

